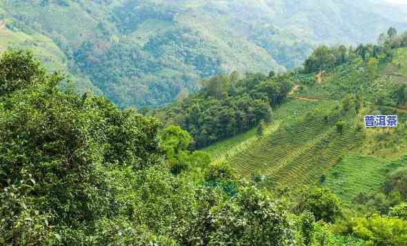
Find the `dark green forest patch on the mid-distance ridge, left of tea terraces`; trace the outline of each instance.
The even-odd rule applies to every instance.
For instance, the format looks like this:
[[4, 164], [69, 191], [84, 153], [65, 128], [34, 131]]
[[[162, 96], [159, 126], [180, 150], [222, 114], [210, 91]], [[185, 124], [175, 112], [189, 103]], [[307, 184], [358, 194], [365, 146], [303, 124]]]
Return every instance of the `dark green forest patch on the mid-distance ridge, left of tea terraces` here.
[[266, 78], [262, 74], [235, 73], [219, 75], [203, 81], [203, 88], [187, 99], [168, 105], [165, 120], [181, 125], [195, 140], [195, 147], [235, 136], [259, 124], [271, 121], [271, 105], [279, 105], [290, 91], [288, 74]]

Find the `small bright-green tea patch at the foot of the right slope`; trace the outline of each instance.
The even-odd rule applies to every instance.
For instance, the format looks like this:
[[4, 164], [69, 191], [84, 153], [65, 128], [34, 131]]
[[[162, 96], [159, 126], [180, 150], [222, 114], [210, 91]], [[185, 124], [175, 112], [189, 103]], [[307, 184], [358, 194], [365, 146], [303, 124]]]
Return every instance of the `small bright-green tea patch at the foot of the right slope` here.
[[360, 192], [373, 192], [386, 180], [386, 174], [407, 165], [407, 156], [388, 161], [373, 156], [346, 154], [339, 165], [326, 175], [324, 187], [330, 188], [344, 201], [351, 202]]

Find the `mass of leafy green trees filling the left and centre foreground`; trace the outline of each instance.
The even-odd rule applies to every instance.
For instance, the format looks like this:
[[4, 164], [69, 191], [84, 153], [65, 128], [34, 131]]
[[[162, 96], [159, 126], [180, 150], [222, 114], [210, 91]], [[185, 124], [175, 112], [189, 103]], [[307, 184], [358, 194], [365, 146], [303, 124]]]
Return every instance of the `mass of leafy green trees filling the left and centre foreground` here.
[[[61, 91], [63, 77], [47, 74], [30, 53], [6, 52], [0, 68], [2, 244], [295, 240], [288, 212], [266, 190], [237, 186], [231, 198], [217, 185], [191, 187], [170, 174], [163, 158], [181, 161], [190, 141], [179, 127], [161, 133], [155, 119]], [[209, 180], [226, 178], [209, 168]]]

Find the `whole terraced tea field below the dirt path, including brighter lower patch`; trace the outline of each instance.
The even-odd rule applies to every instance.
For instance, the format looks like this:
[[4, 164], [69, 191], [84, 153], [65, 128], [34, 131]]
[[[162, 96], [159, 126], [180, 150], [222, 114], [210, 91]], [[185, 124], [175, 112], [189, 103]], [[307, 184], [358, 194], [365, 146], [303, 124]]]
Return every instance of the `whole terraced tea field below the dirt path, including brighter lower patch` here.
[[[204, 151], [248, 180], [264, 176], [267, 187], [319, 183], [325, 176], [321, 185], [351, 201], [359, 192], [377, 189], [388, 172], [407, 165], [407, 157], [404, 164], [357, 154], [365, 133], [352, 126], [354, 116], [339, 111], [326, 115], [338, 103], [289, 99], [275, 110], [263, 138], [257, 139], [252, 129]], [[335, 127], [339, 119], [346, 122], [342, 134]]]

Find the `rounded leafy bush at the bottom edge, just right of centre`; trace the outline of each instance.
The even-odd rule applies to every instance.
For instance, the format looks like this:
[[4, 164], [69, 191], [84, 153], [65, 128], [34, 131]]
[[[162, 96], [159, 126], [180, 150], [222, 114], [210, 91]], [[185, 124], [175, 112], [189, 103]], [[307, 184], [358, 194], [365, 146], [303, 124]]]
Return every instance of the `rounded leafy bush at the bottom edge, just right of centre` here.
[[[293, 235], [284, 211], [266, 190], [246, 187], [212, 218], [217, 228], [209, 245], [292, 245]], [[223, 244], [223, 243], [222, 243]]]

